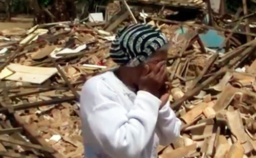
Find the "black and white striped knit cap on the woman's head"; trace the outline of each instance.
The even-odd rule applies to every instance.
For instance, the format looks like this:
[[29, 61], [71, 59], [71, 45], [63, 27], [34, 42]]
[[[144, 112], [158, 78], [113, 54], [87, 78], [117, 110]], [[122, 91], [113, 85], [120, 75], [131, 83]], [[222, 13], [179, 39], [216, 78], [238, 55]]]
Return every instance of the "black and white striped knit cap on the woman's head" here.
[[132, 24], [112, 42], [110, 57], [119, 65], [138, 66], [167, 42], [166, 36], [156, 27]]

